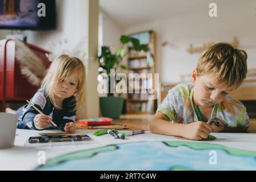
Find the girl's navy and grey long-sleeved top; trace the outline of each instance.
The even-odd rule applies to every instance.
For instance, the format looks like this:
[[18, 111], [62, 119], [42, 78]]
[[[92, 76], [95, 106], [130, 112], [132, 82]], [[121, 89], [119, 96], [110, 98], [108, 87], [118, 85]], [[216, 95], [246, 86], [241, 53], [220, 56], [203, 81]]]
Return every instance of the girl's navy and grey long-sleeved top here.
[[[64, 127], [68, 122], [75, 122], [75, 105], [76, 100], [74, 96], [65, 98], [63, 100], [62, 109], [56, 109], [51, 103], [50, 98], [46, 97], [45, 89], [39, 89], [37, 93], [31, 98], [32, 102], [39, 110], [41, 110], [45, 115], [53, 118], [53, 122], [64, 131]], [[39, 114], [37, 110], [34, 109], [30, 104], [26, 104], [19, 107], [17, 110], [18, 114], [18, 129], [31, 129], [39, 130], [34, 125], [35, 115]], [[50, 125], [46, 129], [56, 128]]]

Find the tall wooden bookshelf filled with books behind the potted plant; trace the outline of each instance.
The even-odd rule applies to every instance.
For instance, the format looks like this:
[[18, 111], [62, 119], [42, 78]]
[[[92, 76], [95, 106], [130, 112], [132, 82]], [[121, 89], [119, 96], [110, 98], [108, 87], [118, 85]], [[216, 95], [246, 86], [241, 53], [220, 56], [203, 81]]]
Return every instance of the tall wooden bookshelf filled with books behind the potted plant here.
[[[137, 52], [129, 51], [127, 59], [128, 66], [128, 92], [126, 98], [126, 113], [127, 114], [144, 114], [153, 113], [155, 109], [155, 100], [150, 100], [150, 94], [147, 88], [152, 88], [154, 85], [154, 73], [155, 73], [155, 32], [154, 31], [143, 31], [130, 34], [130, 37], [139, 39], [141, 44], [146, 44], [153, 53], [153, 57], [150, 56], [149, 52]], [[137, 73], [134, 77], [130, 77], [129, 73]], [[144, 73], [144, 74], [142, 74]], [[148, 76], [147, 73], [151, 73]], [[133, 90], [133, 93], [129, 92]]]

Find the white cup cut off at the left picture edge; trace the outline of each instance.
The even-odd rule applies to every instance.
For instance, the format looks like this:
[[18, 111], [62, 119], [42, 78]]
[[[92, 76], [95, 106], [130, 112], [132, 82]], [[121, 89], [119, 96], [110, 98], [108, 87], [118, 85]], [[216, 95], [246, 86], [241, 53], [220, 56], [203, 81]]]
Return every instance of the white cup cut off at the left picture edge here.
[[0, 113], [0, 148], [14, 146], [18, 115]]

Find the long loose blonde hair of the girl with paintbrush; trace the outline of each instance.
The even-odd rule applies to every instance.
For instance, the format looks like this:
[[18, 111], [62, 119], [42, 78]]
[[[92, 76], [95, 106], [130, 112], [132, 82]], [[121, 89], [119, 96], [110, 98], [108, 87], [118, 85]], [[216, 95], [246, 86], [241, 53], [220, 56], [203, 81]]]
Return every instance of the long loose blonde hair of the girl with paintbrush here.
[[[85, 108], [85, 66], [82, 61], [77, 57], [70, 57], [68, 55], [61, 55], [51, 63], [50, 68], [47, 70], [45, 77], [42, 80], [41, 88], [46, 89], [46, 96], [50, 98], [50, 101], [53, 105], [57, 106], [54, 99], [54, 87], [58, 81], [61, 81], [68, 77], [71, 73], [78, 74], [78, 85], [77, 92], [74, 94], [77, 105], [75, 105], [74, 110], [77, 109], [77, 106], [80, 106], [82, 109]], [[75, 103], [74, 101], [70, 102]]]

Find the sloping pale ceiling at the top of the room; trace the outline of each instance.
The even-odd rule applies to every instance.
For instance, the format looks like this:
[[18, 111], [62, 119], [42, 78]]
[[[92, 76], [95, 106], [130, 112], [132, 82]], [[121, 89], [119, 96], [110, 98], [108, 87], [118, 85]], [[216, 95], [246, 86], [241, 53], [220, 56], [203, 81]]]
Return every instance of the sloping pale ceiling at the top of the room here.
[[207, 12], [211, 2], [218, 7], [239, 0], [99, 0], [99, 6], [118, 26], [127, 28], [197, 11]]

